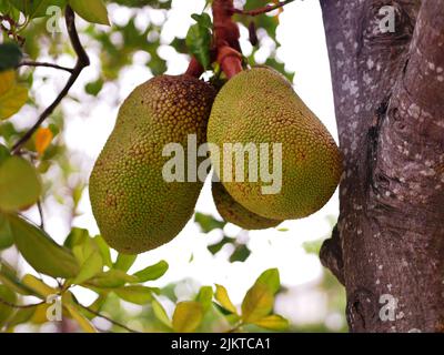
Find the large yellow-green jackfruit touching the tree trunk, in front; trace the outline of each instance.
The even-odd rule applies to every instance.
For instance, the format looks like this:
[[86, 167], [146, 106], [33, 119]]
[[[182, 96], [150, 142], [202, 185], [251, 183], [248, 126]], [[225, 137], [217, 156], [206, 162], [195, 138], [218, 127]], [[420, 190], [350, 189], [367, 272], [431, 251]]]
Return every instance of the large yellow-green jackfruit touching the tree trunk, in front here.
[[[330, 200], [342, 174], [342, 156], [326, 128], [291, 83], [270, 68], [243, 71], [222, 88], [211, 112], [208, 139], [220, 148], [219, 174], [230, 195], [268, 219], [293, 220], [316, 212]], [[261, 179], [236, 182], [234, 159], [233, 181], [229, 182], [223, 175], [222, 162], [230, 160], [223, 154], [224, 143], [254, 143], [258, 148], [260, 143], [282, 143], [280, 192], [263, 194], [262, 186], [269, 183]], [[272, 170], [272, 146], [269, 152]], [[245, 164], [245, 176], [248, 170]]]

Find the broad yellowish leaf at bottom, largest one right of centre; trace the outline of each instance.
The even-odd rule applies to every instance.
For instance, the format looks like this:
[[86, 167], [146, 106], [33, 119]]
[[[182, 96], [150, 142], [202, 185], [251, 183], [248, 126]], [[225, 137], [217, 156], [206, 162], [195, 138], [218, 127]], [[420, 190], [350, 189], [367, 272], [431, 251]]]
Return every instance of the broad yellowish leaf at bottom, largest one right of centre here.
[[254, 284], [249, 290], [242, 302], [242, 320], [244, 323], [254, 323], [266, 315], [273, 308], [274, 297], [270, 288], [264, 284]]

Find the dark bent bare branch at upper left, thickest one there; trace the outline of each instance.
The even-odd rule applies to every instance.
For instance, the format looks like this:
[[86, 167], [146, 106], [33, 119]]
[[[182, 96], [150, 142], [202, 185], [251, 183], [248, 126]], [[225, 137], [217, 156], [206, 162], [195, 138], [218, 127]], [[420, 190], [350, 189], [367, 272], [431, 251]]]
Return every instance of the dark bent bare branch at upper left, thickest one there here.
[[74, 84], [75, 80], [79, 78], [82, 70], [90, 64], [90, 60], [88, 58], [87, 52], [84, 51], [80, 39], [79, 33], [75, 29], [75, 14], [72, 11], [70, 6], [67, 6], [64, 18], [67, 22], [68, 33], [71, 40], [72, 48], [75, 51], [78, 57], [75, 67], [72, 69], [71, 75], [68, 79], [67, 84], [64, 85], [63, 90], [59, 93], [56, 100], [48, 106], [42, 114], [40, 115], [39, 120], [36, 124], [27, 132], [24, 135], [12, 146], [12, 153], [17, 154], [20, 149], [23, 146], [26, 142], [32, 136], [32, 134], [39, 129], [39, 126], [43, 123], [43, 121], [52, 114], [56, 108], [60, 104], [60, 102], [64, 99], [64, 97], [70, 91], [71, 87]]

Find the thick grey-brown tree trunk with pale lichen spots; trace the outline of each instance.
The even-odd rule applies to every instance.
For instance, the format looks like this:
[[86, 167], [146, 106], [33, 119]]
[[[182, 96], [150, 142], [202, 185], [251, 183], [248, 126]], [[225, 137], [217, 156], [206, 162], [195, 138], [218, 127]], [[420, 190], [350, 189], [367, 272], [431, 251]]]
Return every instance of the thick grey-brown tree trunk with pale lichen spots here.
[[352, 332], [444, 332], [444, 1], [321, 7], [345, 162], [321, 260]]

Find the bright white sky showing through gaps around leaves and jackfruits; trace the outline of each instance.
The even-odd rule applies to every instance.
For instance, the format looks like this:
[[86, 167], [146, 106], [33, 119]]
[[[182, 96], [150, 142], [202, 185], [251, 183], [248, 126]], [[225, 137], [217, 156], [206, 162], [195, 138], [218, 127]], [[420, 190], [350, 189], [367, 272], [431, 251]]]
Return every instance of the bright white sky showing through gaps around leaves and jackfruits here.
[[[238, 4], [241, 3], [242, 1], [238, 1]], [[168, 21], [162, 31], [163, 41], [168, 43], [175, 36], [184, 37], [189, 26], [193, 22], [190, 18], [191, 13], [201, 12], [203, 4], [203, 0], [173, 1], [173, 9], [169, 12]], [[119, 24], [124, 24], [130, 16], [128, 11], [115, 6], [109, 6], [109, 11], [112, 22]], [[149, 16], [153, 21], [160, 21], [163, 18], [160, 11], [149, 11]], [[138, 21], [143, 23], [145, 20], [147, 13], [140, 11]], [[297, 94], [336, 138], [329, 59], [319, 1], [296, 1], [286, 6], [280, 21], [278, 39], [282, 43], [282, 48], [278, 52], [279, 58], [289, 70], [295, 71], [294, 88]], [[248, 53], [251, 51], [251, 45], [246, 40], [245, 29], [242, 30], [242, 47]], [[93, 50], [91, 52], [93, 53]], [[168, 58], [168, 73], [179, 74], [185, 70], [186, 58], [184, 55], [175, 54], [168, 45], [163, 45], [160, 53]], [[266, 53], [268, 49], [264, 48], [258, 59], [266, 58]], [[122, 101], [138, 84], [151, 77], [150, 71], [142, 64], [145, 58], [145, 53], [137, 53], [134, 65], [123, 70], [119, 85], [105, 84], [98, 99], [85, 98], [84, 102], [75, 103], [71, 101], [64, 104], [65, 112], [69, 112], [65, 140], [69, 148], [75, 152], [72, 159], [81, 164], [85, 173], [89, 174], [114, 125], [118, 112], [115, 98], [119, 99], [118, 101]], [[99, 75], [98, 57], [92, 54], [91, 59], [92, 65], [82, 73], [81, 79], [73, 88], [73, 92], [79, 97], [84, 97], [82, 83], [97, 79]], [[59, 63], [72, 64], [72, 59], [62, 57], [59, 59]], [[50, 69], [38, 69], [36, 73], [46, 74], [50, 78], [47, 82], [36, 79], [34, 88], [37, 89], [33, 92], [38, 102], [43, 105], [61, 89], [65, 78], [59, 73], [54, 75], [54, 71]], [[23, 122], [23, 120], [19, 121]], [[82, 214], [74, 219], [73, 224], [79, 227], [87, 227], [92, 234], [99, 233], [92, 217], [88, 193], [82, 197], [80, 210]], [[209, 184], [205, 184], [202, 191], [196, 211], [218, 215]], [[226, 262], [226, 253], [220, 253], [224, 255], [213, 257], [206, 250], [206, 243], [208, 241], [216, 241], [219, 234], [215, 232], [209, 235], [202, 234], [191, 221], [174, 241], [155, 251], [140, 255], [132, 271], [163, 258], [170, 264], [170, 270], [165, 276], [159, 282], [152, 283], [152, 285], [162, 286], [183, 278], [193, 278], [201, 284], [210, 285], [220, 283], [228, 287], [229, 294], [235, 303], [241, 302], [244, 293], [258, 275], [269, 267], [279, 267], [282, 284], [287, 287], [310, 283], [319, 277], [321, 265], [316, 256], [306, 255], [302, 248], [302, 243], [326, 236], [331, 229], [326, 216], [337, 216], [337, 211], [336, 193], [320, 212], [304, 220], [281, 224], [281, 227], [289, 229], [287, 232], [276, 230], [251, 232], [249, 234], [249, 246], [253, 251], [252, 255], [245, 263], [234, 264]], [[36, 216], [36, 211], [31, 211], [30, 214]], [[62, 242], [69, 231], [65, 216], [67, 209], [56, 203], [50, 203], [46, 210], [47, 230], [59, 242]], [[38, 217], [36, 220], [38, 221]], [[226, 230], [230, 235], [238, 234], [239, 231], [232, 225]], [[189, 263], [192, 255], [193, 261]], [[191, 291], [188, 288], [190, 288], [188, 284], [182, 284], [178, 287], [178, 293], [186, 296]], [[299, 303], [294, 301], [294, 295], [292, 297], [292, 304], [283, 302], [281, 307], [278, 305], [278, 311], [281, 308], [294, 321], [297, 321], [299, 316], [294, 315], [293, 313], [296, 312], [293, 311], [297, 308], [301, 315], [304, 313], [304, 308], [311, 310], [310, 304], [307, 304], [307, 302], [311, 302], [310, 300], [313, 302], [312, 308], [322, 304], [322, 300], [316, 301], [314, 296], [305, 297], [304, 302]], [[81, 291], [79, 298], [89, 302], [92, 300], [92, 295]], [[312, 316], [313, 310], [307, 312]]]

